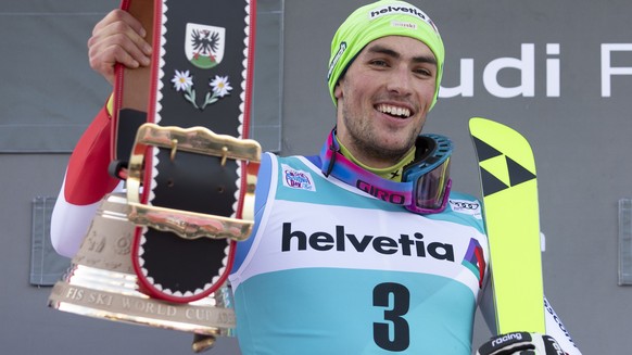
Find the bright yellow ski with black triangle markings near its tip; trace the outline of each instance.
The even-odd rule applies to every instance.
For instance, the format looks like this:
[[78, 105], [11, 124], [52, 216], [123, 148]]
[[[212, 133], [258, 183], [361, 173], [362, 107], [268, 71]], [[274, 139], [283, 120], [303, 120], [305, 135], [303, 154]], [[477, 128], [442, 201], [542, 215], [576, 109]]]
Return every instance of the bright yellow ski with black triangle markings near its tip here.
[[538, 179], [531, 145], [516, 130], [473, 117], [498, 333], [545, 332]]

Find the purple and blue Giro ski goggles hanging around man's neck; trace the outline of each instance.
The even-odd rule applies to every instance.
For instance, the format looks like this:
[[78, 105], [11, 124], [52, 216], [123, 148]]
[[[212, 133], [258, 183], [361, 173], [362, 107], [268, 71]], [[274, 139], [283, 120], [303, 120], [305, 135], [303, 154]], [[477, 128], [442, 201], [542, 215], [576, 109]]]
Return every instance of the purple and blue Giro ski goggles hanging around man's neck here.
[[404, 167], [402, 182], [383, 179], [357, 166], [340, 153], [332, 130], [320, 151], [321, 170], [385, 202], [417, 214], [441, 213], [447, 206], [452, 180], [452, 142], [440, 135], [420, 135], [415, 160]]

